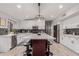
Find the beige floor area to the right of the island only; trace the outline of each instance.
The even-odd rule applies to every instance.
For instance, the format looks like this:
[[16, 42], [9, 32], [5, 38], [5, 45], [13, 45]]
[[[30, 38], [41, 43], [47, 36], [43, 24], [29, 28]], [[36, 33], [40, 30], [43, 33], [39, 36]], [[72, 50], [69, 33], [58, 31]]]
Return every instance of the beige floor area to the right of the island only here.
[[70, 49], [55, 42], [50, 46], [50, 51], [53, 52], [54, 56], [78, 56], [78, 54], [74, 53]]

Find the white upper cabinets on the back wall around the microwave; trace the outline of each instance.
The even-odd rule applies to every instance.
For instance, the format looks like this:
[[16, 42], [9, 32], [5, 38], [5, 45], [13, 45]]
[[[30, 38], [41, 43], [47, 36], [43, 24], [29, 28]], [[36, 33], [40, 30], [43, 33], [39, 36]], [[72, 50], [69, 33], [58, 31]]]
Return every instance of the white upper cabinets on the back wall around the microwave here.
[[19, 23], [19, 28], [21, 29], [32, 29], [33, 26], [38, 26], [38, 29], [45, 29], [44, 20], [26, 20]]

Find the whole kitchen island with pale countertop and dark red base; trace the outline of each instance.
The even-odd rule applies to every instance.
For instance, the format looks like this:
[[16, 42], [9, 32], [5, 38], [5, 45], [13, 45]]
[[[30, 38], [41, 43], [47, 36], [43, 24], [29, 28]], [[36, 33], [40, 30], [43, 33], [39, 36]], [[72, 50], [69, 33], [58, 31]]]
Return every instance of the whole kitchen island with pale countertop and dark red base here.
[[49, 43], [52, 44], [55, 38], [46, 33], [38, 33], [30, 34], [29, 37], [23, 37], [23, 39], [26, 43], [31, 41], [33, 56], [45, 56], [49, 53]]

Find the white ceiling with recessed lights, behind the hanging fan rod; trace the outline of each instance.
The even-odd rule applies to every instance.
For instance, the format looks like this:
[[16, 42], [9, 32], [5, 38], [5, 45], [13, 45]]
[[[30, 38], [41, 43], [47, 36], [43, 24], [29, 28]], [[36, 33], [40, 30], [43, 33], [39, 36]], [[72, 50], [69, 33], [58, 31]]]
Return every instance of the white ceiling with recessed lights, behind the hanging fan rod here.
[[[59, 5], [63, 5], [59, 9]], [[17, 8], [21, 5], [21, 8]], [[78, 5], [77, 3], [41, 3], [40, 14], [47, 20], [60, 17], [66, 11]], [[31, 19], [38, 15], [39, 8], [37, 3], [0, 3], [0, 12], [12, 16], [16, 20]]]

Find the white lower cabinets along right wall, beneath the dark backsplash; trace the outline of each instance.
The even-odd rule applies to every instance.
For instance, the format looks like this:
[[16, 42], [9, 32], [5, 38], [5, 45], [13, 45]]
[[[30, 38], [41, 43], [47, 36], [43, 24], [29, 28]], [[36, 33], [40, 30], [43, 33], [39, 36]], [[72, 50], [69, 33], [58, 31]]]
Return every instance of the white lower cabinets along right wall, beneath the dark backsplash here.
[[75, 37], [63, 37], [61, 44], [79, 54], [79, 39], [77, 40]]

